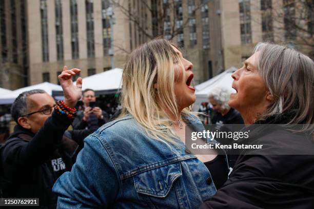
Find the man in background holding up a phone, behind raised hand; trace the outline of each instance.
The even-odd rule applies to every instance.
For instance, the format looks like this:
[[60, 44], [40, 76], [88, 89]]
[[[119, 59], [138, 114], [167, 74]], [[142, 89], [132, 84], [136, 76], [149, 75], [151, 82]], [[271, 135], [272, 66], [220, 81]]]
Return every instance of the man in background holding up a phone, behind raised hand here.
[[82, 101], [83, 110], [78, 111], [73, 121], [73, 129], [90, 129], [90, 127], [101, 127], [108, 121], [108, 114], [100, 107], [95, 107], [95, 91], [85, 89]]

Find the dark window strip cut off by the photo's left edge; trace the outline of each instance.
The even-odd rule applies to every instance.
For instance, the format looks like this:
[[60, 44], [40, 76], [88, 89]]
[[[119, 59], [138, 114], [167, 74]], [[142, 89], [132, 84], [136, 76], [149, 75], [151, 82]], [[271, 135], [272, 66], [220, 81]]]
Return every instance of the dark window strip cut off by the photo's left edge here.
[[7, 34], [6, 34], [6, 1], [0, 1], [0, 24], [1, 24], [1, 45], [2, 45], [2, 60], [7, 61]]

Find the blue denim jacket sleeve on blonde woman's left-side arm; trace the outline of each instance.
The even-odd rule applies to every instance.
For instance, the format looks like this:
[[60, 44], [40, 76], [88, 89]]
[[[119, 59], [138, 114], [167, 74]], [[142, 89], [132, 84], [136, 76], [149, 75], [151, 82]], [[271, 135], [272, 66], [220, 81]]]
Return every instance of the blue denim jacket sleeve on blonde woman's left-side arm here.
[[102, 142], [95, 136], [85, 139], [71, 172], [55, 182], [57, 208], [110, 208], [120, 194], [121, 181]]

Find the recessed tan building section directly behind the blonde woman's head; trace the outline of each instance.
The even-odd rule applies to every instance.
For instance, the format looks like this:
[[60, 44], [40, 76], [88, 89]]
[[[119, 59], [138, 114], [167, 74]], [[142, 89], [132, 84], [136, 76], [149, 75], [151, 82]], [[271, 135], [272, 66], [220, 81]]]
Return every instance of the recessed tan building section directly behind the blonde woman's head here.
[[219, 0], [130, 0], [127, 8], [130, 49], [163, 35], [193, 63], [195, 84], [223, 70]]

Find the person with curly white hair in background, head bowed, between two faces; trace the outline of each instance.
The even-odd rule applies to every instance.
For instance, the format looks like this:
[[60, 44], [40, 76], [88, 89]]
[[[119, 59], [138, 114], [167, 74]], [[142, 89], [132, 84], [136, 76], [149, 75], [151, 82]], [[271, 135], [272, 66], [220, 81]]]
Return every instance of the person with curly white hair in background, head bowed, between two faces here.
[[230, 91], [224, 87], [218, 87], [212, 90], [208, 96], [208, 100], [212, 105], [212, 109], [216, 112], [211, 119], [213, 124], [243, 124], [243, 119], [240, 113], [230, 108], [228, 101]]

